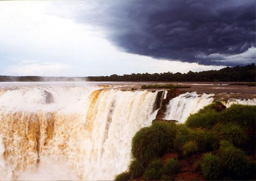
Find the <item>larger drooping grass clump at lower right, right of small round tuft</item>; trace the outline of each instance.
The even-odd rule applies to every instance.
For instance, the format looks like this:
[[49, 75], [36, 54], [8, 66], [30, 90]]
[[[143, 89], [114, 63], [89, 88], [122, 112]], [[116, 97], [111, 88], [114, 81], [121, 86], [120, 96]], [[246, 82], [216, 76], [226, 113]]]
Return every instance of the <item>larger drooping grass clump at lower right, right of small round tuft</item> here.
[[228, 176], [242, 178], [247, 175], [249, 162], [244, 151], [236, 148], [228, 141], [221, 141], [219, 149], [221, 165]]

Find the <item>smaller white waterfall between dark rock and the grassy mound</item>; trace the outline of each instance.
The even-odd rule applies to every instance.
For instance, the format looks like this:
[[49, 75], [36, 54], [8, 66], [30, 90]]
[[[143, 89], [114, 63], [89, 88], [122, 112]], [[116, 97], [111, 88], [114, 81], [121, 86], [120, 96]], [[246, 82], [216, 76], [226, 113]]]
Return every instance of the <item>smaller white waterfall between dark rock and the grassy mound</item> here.
[[184, 93], [172, 99], [167, 105], [164, 119], [185, 122], [189, 114], [209, 105], [214, 94], [197, 94], [196, 92]]

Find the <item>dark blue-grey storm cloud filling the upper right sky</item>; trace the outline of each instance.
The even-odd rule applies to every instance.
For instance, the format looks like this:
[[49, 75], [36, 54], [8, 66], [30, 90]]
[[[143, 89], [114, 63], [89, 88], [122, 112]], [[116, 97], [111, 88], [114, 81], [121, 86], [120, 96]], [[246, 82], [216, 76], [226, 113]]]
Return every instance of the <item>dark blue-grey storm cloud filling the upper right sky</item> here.
[[108, 39], [126, 52], [203, 65], [255, 61], [227, 58], [255, 47], [255, 0], [111, 2], [99, 5], [90, 22], [104, 27]]

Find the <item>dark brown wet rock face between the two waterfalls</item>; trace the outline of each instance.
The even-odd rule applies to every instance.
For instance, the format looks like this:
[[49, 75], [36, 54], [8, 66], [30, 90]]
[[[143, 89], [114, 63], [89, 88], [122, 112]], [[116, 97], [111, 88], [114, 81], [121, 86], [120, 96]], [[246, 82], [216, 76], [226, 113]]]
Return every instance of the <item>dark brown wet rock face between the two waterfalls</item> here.
[[[159, 93], [161, 93], [161, 92], [163, 92], [163, 91], [160, 91]], [[167, 91], [167, 95], [166, 95], [166, 99], [163, 99], [163, 93], [162, 93], [162, 96], [159, 96], [159, 97], [162, 98], [161, 102], [160, 102], [160, 100], [158, 100], [160, 98], [158, 98], [158, 94], [157, 94], [156, 104], [157, 104], [157, 101], [160, 102], [160, 107], [158, 107], [160, 109], [157, 112], [156, 119], [163, 119], [164, 115], [166, 113], [166, 106], [168, 105], [169, 101], [172, 100], [173, 98], [179, 96], [182, 93], [185, 93], [185, 91], [180, 91], [180, 90], [177, 90], [177, 89], [175, 89], [175, 90], [172, 90], [172, 89], [168, 90]]]

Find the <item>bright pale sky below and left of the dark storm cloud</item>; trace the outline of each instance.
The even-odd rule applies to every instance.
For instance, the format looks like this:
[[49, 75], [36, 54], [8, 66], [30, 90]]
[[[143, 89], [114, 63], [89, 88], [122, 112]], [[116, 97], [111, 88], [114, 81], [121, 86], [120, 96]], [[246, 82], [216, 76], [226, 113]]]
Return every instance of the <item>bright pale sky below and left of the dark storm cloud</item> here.
[[[93, 1], [0, 1], [0, 75], [100, 76], [225, 67], [126, 53], [97, 23], [76, 18], [77, 12], [91, 7]], [[247, 52], [254, 54], [255, 48], [243, 54]]]

